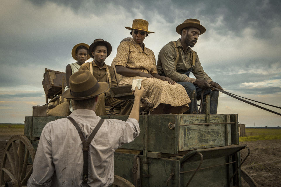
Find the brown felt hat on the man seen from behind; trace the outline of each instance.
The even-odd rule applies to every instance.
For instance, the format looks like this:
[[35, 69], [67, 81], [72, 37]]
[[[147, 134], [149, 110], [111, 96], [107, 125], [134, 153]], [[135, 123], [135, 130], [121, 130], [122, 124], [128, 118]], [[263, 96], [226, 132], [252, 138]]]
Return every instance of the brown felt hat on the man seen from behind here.
[[69, 78], [69, 89], [62, 96], [66, 99], [89, 99], [107, 91], [107, 82], [97, 82], [89, 70], [80, 70]]

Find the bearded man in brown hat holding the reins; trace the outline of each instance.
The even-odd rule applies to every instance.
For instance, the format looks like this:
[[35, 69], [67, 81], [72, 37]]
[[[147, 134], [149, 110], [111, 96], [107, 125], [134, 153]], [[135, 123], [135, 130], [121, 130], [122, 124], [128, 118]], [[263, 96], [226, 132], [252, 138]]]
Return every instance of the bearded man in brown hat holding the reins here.
[[[217, 114], [219, 92], [211, 86], [217, 89], [222, 89], [222, 87], [204, 72], [197, 53], [191, 49], [196, 44], [199, 35], [205, 31], [205, 27], [200, 25], [199, 20], [185, 20], [176, 28], [176, 32], [181, 35], [181, 38], [166, 44], [158, 55], [158, 74], [170, 77], [186, 89], [191, 100], [187, 114], [198, 114], [196, 100], [201, 99], [202, 89], [204, 90], [203, 101], [205, 101], [206, 95], [210, 95], [210, 114]], [[190, 72], [196, 79], [189, 77]], [[205, 110], [206, 106], [203, 102], [203, 113]]]

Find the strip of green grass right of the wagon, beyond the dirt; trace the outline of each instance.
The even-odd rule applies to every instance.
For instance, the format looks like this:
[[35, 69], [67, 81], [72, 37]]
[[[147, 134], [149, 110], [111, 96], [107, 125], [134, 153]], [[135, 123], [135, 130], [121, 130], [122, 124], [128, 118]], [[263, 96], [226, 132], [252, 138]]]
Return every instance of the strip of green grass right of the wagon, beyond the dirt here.
[[246, 128], [246, 136], [239, 137], [239, 141], [276, 140], [281, 139], [281, 129]]

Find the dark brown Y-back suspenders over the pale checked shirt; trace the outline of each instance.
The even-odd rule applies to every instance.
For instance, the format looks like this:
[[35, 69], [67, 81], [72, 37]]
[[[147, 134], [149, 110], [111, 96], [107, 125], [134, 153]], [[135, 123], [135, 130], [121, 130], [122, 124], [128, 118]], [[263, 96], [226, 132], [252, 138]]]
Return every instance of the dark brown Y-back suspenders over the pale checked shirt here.
[[78, 134], [80, 136], [80, 139], [82, 141], [83, 144], [83, 183], [87, 183], [88, 181], [88, 163], [89, 163], [89, 145], [92, 141], [92, 139], [94, 138], [94, 136], [96, 135], [97, 131], [100, 129], [100, 127], [102, 126], [102, 123], [104, 122], [104, 119], [100, 119], [100, 121], [97, 123], [97, 126], [95, 127], [95, 129], [92, 131], [92, 133], [90, 134], [88, 140], [84, 138], [84, 135], [79, 127], [79, 125], [77, 124], [77, 122], [75, 120], [73, 120], [72, 117], [67, 116], [66, 117], [77, 129]]

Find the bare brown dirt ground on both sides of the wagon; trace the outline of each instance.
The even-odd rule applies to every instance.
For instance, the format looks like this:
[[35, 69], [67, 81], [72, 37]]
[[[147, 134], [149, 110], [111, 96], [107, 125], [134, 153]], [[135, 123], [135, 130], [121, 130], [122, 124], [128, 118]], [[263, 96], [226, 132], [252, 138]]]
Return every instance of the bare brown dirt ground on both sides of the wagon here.
[[[23, 129], [0, 129], [0, 160], [4, 153], [5, 145], [14, 134], [23, 134]], [[248, 141], [251, 154], [242, 165], [242, 168], [256, 181], [258, 186], [281, 187], [281, 140]], [[247, 155], [247, 150], [241, 151], [241, 159]], [[242, 186], [249, 186], [242, 181]]]

